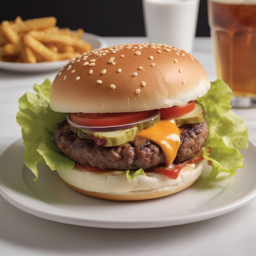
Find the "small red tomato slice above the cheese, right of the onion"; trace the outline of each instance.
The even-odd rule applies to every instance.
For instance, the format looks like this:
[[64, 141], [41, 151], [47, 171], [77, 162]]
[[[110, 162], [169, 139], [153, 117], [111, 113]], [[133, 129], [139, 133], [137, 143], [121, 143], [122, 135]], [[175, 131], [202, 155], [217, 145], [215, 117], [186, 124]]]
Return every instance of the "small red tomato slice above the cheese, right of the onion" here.
[[177, 117], [180, 115], [185, 115], [195, 109], [195, 101], [190, 101], [183, 106], [173, 106], [171, 108], [161, 108], [160, 117], [161, 119], [167, 119], [172, 117]]

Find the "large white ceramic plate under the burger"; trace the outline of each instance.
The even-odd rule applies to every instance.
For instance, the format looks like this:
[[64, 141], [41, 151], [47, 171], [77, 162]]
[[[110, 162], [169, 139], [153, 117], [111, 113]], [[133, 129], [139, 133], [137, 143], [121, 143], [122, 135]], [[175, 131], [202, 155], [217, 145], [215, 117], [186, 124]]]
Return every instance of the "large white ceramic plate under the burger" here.
[[167, 227], [206, 220], [242, 207], [256, 196], [256, 145], [243, 150], [245, 167], [233, 177], [206, 179], [164, 198], [112, 202], [90, 198], [70, 189], [56, 171], [39, 166], [38, 181], [24, 166], [22, 140], [0, 157], [0, 193], [14, 206], [35, 216], [73, 225], [101, 228]]

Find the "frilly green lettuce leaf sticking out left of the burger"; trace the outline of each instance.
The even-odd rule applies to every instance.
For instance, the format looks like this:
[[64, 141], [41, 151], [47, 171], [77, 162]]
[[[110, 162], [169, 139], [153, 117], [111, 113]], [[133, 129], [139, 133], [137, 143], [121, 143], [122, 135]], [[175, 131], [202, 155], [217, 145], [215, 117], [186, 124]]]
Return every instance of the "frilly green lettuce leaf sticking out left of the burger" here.
[[19, 111], [16, 120], [21, 126], [25, 145], [25, 165], [38, 178], [38, 163], [47, 164], [52, 170], [58, 166], [73, 168], [74, 162], [60, 153], [53, 141], [56, 124], [63, 121], [67, 114], [54, 112], [50, 108], [49, 93], [52, 83], [46, 79], [43, 84], [35, 84], [36, 94], [26, 92], [19, 99]]

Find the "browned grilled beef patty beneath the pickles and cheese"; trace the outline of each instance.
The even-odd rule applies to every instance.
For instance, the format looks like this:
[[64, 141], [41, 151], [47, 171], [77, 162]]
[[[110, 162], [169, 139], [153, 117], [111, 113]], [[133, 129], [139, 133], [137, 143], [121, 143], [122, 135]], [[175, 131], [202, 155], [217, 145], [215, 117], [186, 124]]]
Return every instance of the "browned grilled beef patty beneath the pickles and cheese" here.
[[[208, 137], [207, 121], [179, 127], [180, 147], [174, 164], [185, 162], [197, 154]], [[91, 139], [80, 138], [72, 132], [67, 120], [58, 123], [54, 130], [58, 149], [74, 162], [101, 169], [147, 169], [165, 162], [162, 149], [153, 141], [135, 137], [120, 146], [99, 146]]]

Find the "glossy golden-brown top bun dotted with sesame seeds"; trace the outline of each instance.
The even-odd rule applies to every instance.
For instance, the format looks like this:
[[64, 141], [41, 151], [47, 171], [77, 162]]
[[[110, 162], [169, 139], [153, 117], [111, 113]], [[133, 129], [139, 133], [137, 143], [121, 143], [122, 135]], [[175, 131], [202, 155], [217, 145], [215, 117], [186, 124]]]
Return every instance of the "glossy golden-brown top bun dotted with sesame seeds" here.
[[137, 112], [182, 106], [210, 88], [202, 65], [163, 44], [125, 44], [70, 60], [52, 84], [58, 112]]

